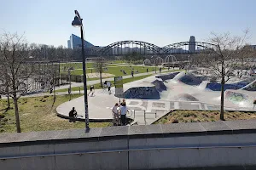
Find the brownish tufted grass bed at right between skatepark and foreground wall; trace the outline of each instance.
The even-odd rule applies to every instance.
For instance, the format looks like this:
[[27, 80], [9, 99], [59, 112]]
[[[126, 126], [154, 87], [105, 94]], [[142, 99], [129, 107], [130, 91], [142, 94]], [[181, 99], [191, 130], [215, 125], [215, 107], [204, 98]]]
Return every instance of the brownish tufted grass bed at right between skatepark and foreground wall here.
[[[254, 112], [225, 111], [224, 120], [247, 120], [255, 119]], [[169, 124], [177, 122], [217, 122], [219, 111], [173, 111], [163, 116], [154, 124]]]

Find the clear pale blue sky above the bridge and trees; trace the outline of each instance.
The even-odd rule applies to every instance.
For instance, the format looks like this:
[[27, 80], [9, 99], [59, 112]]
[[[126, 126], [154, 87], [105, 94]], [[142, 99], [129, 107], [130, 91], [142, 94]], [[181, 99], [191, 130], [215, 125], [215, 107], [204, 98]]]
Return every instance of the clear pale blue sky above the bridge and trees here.
[[246, 28], [248, 42], [256, 44], [255, 7], [255, 0], [1, 0], [0, 33], [25, 32], [28, 42], [67, 47], [72, 33], [80, 35], [71, 26], [77, 9], [85, 39], [94, 45], [140, 40], [161, 47]]

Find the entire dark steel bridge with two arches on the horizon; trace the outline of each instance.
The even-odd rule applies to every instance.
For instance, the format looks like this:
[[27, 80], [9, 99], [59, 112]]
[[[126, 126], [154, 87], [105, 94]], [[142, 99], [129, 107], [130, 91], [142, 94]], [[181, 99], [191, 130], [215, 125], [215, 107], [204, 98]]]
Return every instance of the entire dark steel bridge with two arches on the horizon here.
[[149, 42], [141, 41], [120, 41], [113, 42], [103, 48], [85, 48], [85, 54], [87, 55], [125, 55], [131, 53], [138, 54], [196, 54], [200, 53], [203, 49], [212, 49], [216, 45], [207, 42], [177, 42], [166, 45], [162, 48]]

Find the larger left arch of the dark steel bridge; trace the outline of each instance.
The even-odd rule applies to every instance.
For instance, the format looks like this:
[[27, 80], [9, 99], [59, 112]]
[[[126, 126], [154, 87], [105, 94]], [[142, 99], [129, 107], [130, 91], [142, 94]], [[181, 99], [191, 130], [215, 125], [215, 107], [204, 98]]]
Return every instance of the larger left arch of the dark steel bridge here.
[[98, 51], [100, 55], [124, 55], [137, 52], [138, 54], [160, 54], [161, 48], [149, 42], [134, 40], [113, 42]]

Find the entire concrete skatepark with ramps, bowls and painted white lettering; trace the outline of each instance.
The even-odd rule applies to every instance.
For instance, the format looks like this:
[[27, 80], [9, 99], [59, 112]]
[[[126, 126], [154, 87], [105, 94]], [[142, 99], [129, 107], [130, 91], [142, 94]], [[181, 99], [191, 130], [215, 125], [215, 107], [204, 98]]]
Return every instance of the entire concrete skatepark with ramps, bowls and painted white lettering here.
[[[210, 79], [195, 71], [179, 71], [125, 83], [123, 95], [116, 95], [115, 88], [112, 94], [104, 88], [96, 89], [95, 95], [88, 98], [90, 121], [110, 122], [112, 107], [121, 99], [126, 100], [129, 109], [137, 112], [132, 118], [138, 124], [151, 124], [172, 110], [219, 111], [221, 84], [210, 82]], [[253, 111], [255, 79], [226, 83], [224, 90], [225, 111]], [[78, 120], [84, 121], [83, 104], [83, 96], [63, 103], [57, 107], [58, 116], [68, 118], [68, 111], [75, 107], [81, 115]]]

